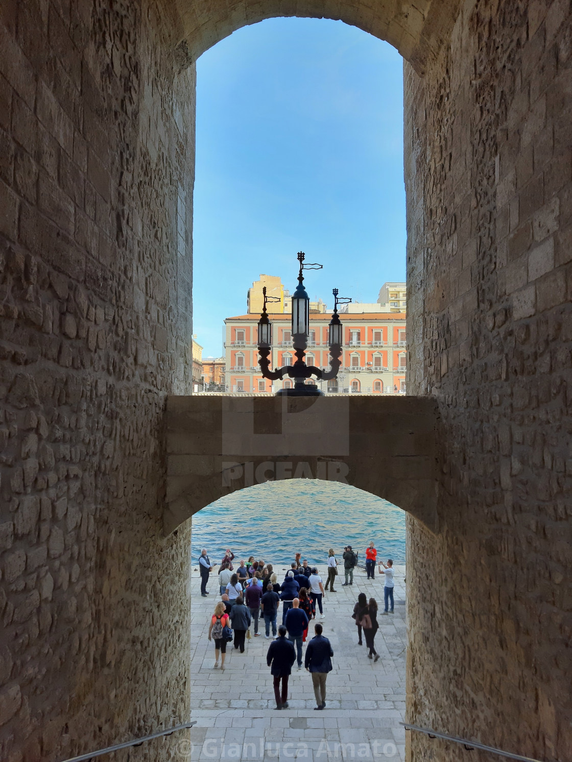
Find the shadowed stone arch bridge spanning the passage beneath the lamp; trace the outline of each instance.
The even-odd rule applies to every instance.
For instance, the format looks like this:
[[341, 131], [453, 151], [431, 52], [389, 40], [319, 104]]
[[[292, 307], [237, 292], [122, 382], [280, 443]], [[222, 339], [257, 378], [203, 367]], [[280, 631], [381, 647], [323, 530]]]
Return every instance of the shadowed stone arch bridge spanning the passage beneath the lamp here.
[[299, 478], [346, 482], [435, 531], [438, 421], [430, 397], [170, 396], [165, 534], [230, 492]]

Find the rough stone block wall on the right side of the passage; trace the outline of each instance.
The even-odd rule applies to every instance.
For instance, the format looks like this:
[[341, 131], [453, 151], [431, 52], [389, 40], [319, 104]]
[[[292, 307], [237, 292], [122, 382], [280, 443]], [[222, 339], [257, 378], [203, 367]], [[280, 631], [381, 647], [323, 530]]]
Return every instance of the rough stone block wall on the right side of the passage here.
[[[439, 534], [408, 526], [407, 711], [542, 760], [572, 754], [571, 67], [567, 0], [465, 2], [426, 78], [404, 71], [407, 391], [442, 419]], [[464, 754], [408, 735], [416, 762]]]

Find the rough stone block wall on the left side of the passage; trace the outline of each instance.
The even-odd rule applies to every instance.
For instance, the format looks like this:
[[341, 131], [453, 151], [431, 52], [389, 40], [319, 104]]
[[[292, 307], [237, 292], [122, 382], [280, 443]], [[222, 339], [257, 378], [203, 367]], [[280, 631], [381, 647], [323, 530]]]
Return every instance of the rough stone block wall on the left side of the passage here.
[[191, 378], [194, 67], [156, 3], [0, 17], [0, 758], [35, 762], [188, 718], [161, 437]]

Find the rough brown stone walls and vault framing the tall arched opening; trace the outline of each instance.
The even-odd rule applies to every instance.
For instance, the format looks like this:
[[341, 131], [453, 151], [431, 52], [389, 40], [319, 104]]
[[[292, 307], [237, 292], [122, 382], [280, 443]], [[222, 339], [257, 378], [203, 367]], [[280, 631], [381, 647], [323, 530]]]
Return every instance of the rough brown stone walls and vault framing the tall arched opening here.
[[567, 759], [568, 0], [2, 2], [0, 757], [188, 716], [190, 530], [162, 537], [162, 420], [191, 378], [194, 60], [276, 15], [410, 59], [408, 389], [442, 434], [439, 533], [409, 522], [407, 717]]

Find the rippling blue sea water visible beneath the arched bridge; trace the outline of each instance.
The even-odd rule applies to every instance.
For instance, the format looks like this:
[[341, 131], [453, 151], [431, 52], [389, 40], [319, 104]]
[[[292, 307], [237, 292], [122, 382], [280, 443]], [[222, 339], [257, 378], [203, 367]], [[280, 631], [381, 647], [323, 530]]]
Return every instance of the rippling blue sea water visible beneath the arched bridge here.
[[192, 559], [207, 548], [215, 570], [230, 548], [237, 559], [290, 564], [294, 553], [323, 568], [328, 549], [342, 561], [344, 546], [365, 549], [373, 540], [378, 559], [405, 563], [405, 513], [387, 500], [340, 482], [288, 479], [226, 495], [192, 519]]

